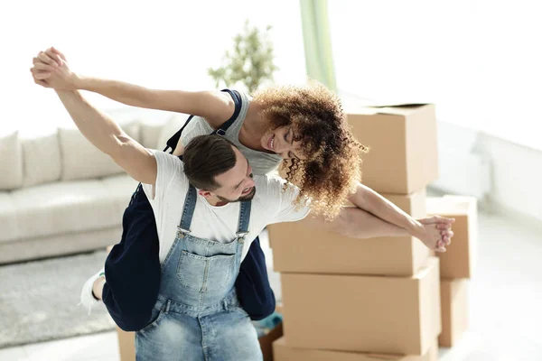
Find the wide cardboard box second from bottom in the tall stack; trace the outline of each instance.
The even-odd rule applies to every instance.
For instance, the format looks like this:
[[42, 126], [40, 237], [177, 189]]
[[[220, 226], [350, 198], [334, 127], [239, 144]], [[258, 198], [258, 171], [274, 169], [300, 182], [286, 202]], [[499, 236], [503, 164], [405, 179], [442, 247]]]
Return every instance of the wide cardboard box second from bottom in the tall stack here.
[[412, 277], [282, 273], [292, 347], [424, 355], [441, 333], [438, 258]]

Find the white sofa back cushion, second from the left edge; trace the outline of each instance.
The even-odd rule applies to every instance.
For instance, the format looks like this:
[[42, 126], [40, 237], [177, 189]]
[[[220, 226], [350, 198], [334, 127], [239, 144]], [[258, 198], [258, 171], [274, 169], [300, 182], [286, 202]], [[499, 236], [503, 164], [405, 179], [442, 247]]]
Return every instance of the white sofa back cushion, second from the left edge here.
[[61, 146], [58, 129], [47, 134], [22, 135], [23, 187], [61, 179]]

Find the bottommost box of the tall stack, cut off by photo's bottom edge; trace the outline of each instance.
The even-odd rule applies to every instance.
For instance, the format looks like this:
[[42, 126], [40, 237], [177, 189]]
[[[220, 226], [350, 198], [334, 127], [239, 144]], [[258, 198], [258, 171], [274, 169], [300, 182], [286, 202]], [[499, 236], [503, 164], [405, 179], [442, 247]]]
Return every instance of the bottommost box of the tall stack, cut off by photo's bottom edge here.
[[312, 348], [290, 347], [285, 338], [279, 338], [273, 343], [275, 361], [437, 361], [438, 346], [436, 340], [422, 356], [401, 356], [390, 354], [367, 354], [360, 352], [345, 352], [318, 350]]

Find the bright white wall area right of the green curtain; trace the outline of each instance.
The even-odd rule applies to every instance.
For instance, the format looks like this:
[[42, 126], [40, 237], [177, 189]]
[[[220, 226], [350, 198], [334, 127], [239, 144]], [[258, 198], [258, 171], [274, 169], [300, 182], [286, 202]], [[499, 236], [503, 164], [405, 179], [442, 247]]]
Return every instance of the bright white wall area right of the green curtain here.
[[[337, 87], [542, 150], [535, 0], [328, 2]], [[512, 125], [513, 124], [513, 125]]]

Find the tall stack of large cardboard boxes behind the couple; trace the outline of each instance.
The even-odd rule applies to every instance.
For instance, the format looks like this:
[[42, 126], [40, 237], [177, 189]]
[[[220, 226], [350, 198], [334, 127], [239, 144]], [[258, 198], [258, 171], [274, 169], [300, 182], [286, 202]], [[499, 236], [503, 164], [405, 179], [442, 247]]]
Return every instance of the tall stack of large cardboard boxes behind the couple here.
[[[373, 107], [348, 116], [371, 148], [363, 183], [424, 218], [425, 187], [438, 177], [434, 106]], [[439, 260], [421, 241], [348, 238], [296, 223], [268, 230], [285, 318], [276, 361], [437, 359]]]

